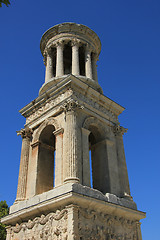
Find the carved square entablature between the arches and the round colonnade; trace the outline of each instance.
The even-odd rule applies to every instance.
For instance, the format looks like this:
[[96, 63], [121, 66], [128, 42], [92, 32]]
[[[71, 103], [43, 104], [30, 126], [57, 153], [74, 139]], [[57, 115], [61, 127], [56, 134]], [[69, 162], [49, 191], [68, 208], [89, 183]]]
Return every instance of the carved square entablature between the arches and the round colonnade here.
[[84, 105], [84, 111], [92, 111], [114, 124], [118, 124], [118, 116], [124, 110], [122, 106], [99, 93], [81, 79], [68, 75], [46, 92], [20, 110], [26, 118], [26, 125], [41, 117], [53, 116], [62, 112], [62, 104], [73, 98]]

